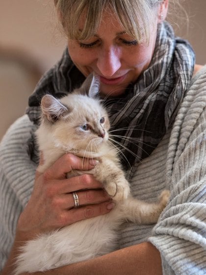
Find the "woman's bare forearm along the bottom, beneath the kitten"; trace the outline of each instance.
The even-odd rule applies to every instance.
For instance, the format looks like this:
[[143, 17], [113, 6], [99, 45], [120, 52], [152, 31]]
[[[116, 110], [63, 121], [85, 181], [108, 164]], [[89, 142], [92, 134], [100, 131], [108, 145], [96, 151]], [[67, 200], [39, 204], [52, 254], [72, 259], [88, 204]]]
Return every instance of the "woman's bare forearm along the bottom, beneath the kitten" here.
[[[151, 243], [123, 248], [92, 260], [35, 275], [162, 275], [159, 251]], [[24, 274], [28, 275], [28, 274]]]

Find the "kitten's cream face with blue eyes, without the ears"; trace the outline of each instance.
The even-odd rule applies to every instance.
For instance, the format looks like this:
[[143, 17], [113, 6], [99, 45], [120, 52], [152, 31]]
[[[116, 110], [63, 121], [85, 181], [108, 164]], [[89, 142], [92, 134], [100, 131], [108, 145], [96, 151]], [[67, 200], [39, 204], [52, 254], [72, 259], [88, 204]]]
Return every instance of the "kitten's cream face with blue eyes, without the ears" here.
[[55, 145], [65, 150], [98, 152], [108, 140], [109, 119], [97, 100], [83, 95], [69, 95], [61, 100], [63, 115], [52, 122]]

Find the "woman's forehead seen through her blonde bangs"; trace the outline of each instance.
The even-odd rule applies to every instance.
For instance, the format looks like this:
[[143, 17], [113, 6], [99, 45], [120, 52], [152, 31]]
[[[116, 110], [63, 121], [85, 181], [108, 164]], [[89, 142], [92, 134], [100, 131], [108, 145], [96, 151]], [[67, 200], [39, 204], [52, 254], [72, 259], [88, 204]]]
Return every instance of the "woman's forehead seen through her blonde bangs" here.
[[[117, 2], [114, 3], [114, 5], [117, 4]], [[154, 11], [152, 12], [153, 15], [150, 14], [144, 18], [139, 9], [134, 11], [131, 7], [127, 9], [125, 7], [125, 10], [124, 7], [120, 7], [120, 9], [117, 9], [116, 6], [102, 7], [97, 6], [96, 10], [95, 6], [92, 9], [91, 5], [86, 3], [81, 9], [74, 10], [74, 13], [70, 14], [69, 17], [68, 13], [65, 12], [62, 26], [67, 37], [69, 39], [87, 40], [98, 35], [101, 27], [102, 29], [115, 30], [117, 35], [120, 32], [125, 32], [139, 43], [145, 38], [149, 39], [151, 25], [155, 21], [153, 20]]]

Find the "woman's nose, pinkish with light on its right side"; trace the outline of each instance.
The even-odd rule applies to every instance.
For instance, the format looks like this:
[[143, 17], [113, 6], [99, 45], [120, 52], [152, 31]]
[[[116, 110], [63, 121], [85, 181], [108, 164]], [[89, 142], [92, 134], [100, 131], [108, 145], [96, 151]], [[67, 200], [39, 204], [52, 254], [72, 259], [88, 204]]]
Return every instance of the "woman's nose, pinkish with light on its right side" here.
[[120, 52], [115, 47], [102, 49], [97, 60], [97, 67], [102, 76], [109, 78], [121, 67]]

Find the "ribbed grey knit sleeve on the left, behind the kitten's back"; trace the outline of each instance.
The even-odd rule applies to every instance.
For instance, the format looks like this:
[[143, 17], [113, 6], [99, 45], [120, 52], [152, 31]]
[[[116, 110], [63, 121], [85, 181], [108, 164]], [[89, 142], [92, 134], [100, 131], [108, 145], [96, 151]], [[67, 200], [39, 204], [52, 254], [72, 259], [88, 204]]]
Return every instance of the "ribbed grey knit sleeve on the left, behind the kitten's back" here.
[[0, 270], [8, 258], [19, 215], [33, 188], [35, 164], [26, 148], [32, 127], [24, 115], [0, 143]]

